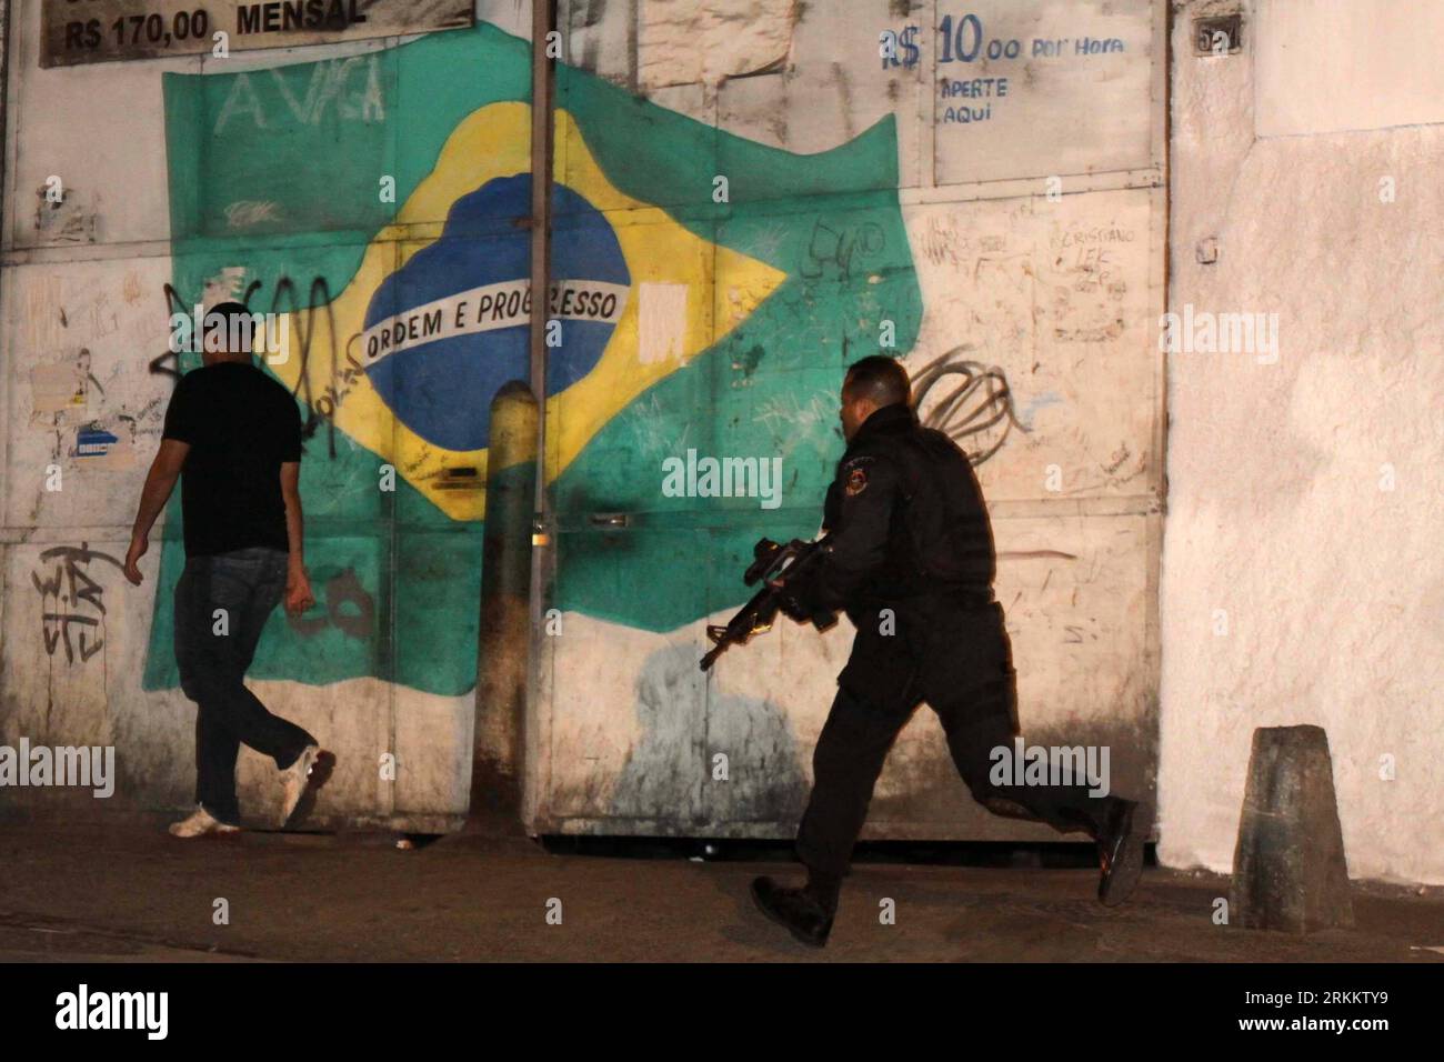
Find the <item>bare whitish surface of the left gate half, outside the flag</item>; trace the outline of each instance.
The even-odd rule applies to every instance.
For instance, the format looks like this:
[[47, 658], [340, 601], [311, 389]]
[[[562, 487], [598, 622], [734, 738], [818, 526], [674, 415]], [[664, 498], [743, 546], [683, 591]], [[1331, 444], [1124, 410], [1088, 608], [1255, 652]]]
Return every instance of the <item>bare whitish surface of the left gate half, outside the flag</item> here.
[[[118, 785], [104, 802], [77, 805], [53, 789], [6, 789], [0, 799], [39, 815], [179, 809], [195, 787], [195, 705], [179, 689], [142, 688], [152, 617], [170, 607], [156, 595], [163, 519], [140, 564], [142, 587], [126, 582], [118, 561], [172, 389], [170, 377], [149, 367], [166, 351], [162, 289], [172, 277], [162, 74], [195, 74], [205, 61], [42, 69], [40, 3], [16, 0], [13, 9], [0, 267], [0, 744], [113, 744]], [[530, 26], [530, 10], [516, 0], [479, 9], [511, 33]], [[224, 69], [358, 55], [400, 40], [237, 52]], [[58, 207], [45, 202], [52, 175], [65, 189]], [[206, 303], [235, 295], [217, 280]], [[74, 400], [61, 407], [65, 394]], [[104, 458], [75, 457], [85, 423], [118, 436]], [[52, 465], [59, 490], [46, 490]], [[308, 501], [312, 542], [345, 533], [315, 519], [321, 501]], [[75, 601], [74, 587], [87, 579], [95, 585]], [[423, 832], [461, 822], [469, 694], [439, 696], [374, 678], [251, 685], [336, 753], [318, 822]], [[383, 754], [397, 764], [391, 777], [378, 769]], [[243, 747], [243, 812], [273, 816], [274, 779], [274, 764]]]

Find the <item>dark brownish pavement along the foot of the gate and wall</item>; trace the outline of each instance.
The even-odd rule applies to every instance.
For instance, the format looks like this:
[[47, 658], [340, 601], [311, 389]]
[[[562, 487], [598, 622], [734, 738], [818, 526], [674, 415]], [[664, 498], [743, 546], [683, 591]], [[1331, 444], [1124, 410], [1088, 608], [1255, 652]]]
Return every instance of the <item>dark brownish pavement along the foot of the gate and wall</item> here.
[[[549, 855], [526, 839], [386, 834], [176, 841], [163, 826], [0, 824], [0, 961], [1206, 961], [1444, 962], [1444, 889], [1357, 884], [1353, 931], [1216, 926], [1227, 880], [1149, 870], [1132, 902], [1096, 873], [859, 865], [832, 944], [794, 945], [747, 887], [784, 863]], [[230, 925], [215, 925], [215, 900]], [[562, 925], [549, 925], [549, 900]], [[895, 902], [895, 925], [879, 903]], [[554, 905], [553, 905], [554, 906]]]

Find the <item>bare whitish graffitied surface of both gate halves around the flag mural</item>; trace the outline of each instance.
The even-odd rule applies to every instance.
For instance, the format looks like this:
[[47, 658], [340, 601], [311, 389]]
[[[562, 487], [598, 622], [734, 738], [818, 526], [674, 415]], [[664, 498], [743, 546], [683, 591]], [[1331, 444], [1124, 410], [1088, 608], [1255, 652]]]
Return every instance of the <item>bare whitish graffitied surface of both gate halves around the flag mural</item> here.
[[[1017, 38], [1027, 51], [970, 64], [943, 62], [934, 27], [949, 14], [956, 27], [965, 12], [936, 0], [560, 7], [566, 62], [770, 147], [810, 155], [882, 117], [897, 118], [898, 202], [923, 301], [907, 366], [975, 361], [996, 370], [1018, 419], [1005, 441], [1001, 428], [988, 439], [1002, 445], [979, 474], [1002, 552], [998, 590], [1014, 636], [1025, 733], [1113, 744], [1116, 779], [1151, 793], [1162, 491], [1161, 358], [1149, 324], [1162, 306], [1161, 0], [978, 0], [970, 10], [985, 38]], [[180, 806], [189, 799], [192, 709], [179, 691], [140, 689], [150, 618], [168, 607], [153, 595], [155, 540], [143, 565], [150, 581], [140, 590], [129, 588], [110, 561], [82, 555], [105, 605], [87, 646], [92, 655], [78, 644], [68, 655], [53, 640], [55, 621], [43, 621], [45, 595], [32, 575], [51, 579], [56, 565], [75, 558], [42, 561], [55, 546], [124, 553], [170, 386], [149, 370], [163, 350], [160, 289], [173, 272], [160, 74], [196, 72], [205, 62], [42, 71], [38, 12], [36, 0], [17, 6], [20, 32], [12, 42], [0, 276], [0, 741], [114, 741], [134, 803]], [[527, 33], [529, 9], [518, 0], [479, 3], [478, 17]], [[910, 25], [917, 62], [884, 69], [879, 32]], [[1032, 56], [1035, 38], [1069, 43]], [[1118, 51], [1079, 52], [1082, 38], [1116, 40]], [[394, 43], [245, 52], [224, 69]], [[1002, 77], [1009, 91], [991, 103], [950, 91], [953, 82]], [[949, 108], [963, 104], [986, 108], [986, 117], [950, 121]], [[48, 212], [38, 210], [36, 192], [51, 173], [69, 194], [64, 208]], [[243, 273], [215, 277], [211, 295], [231, 293]], [[699, 303], [721, 298], [706, 292]], [[800, 334], [810, 325], [806, 315], [800, 306]], [[74, 392], [82, 397], [72, 409], [43, 407], [56, 386], [64, 392], [77, 379], [81, 348], [90, 351], [95, 384]], [[793, 409], [757, 416], [830, 425], [832, 397], [816, 405], [803, 396]], [[124, 426], [103, 467], [68, 459], [78, 419]], [[40, 477], [56, 455], [66, 487], [48, 493]], [[315, 529], [345, 530], [323, 522]], [[721, 617], [654, 634], [566, 617], [575, 636], [559, 652], [546, 720], [557, 725], [546, 738], [546, 770], [534, 779], [544, 789], [544, 825], [686, 832], [702, 822], [718, 832], [791, 832], [846, 630], [826, 639], [780, 630], [729, 657], [712, 711], [682, 682], [683, 673], [689, 682], [697, 675], [708, 618]], [[276, 681], [258, 689], [277, 711], [325, 733], [338, 751], [339, 773], [322, 813], [426, 828], [464, 809], [469, 696], [432, 696], [380, 679]], [[654, 711], [673, 696], [684, 704]], [[712, 711], [696, 748], [690, 734], [671, 728], [679, 708]], [[719, 747], [734, 751], [734, 770], [784, 785], [702, 799], [693, 782], [651, 780], [700, 785], [708, 754]], [[378, 780], [374, 767], [387, 751], [403, 764], [394, 785]], [[677, 756], [682, 773], [663, 774]], [[247, 757], [243, 800], [264, 806], [266, 780], [266, 766]], [[696, 809], [687, 805], [693, 799]], [[871, 829], [1056, 837], [976, 808], [927, 712], [900, 740]]]

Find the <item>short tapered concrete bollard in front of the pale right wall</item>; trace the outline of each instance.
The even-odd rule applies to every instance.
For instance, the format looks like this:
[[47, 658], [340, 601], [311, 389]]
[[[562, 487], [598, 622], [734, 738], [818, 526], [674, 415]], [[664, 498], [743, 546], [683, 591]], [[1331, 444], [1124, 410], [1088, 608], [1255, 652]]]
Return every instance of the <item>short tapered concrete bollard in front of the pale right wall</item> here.
[[1233, 920], [1308, 933], [1353, 925], [1344, 838], [1321, 727], [1259, 727], [1233, 851]]

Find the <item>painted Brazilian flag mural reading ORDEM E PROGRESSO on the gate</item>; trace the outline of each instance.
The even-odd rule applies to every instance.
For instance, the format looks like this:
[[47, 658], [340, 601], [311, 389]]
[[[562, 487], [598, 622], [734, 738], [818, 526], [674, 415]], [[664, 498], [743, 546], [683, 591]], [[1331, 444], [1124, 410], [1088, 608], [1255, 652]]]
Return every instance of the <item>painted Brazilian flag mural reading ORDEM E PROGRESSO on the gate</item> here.
[[[318, 604], [273, 616], [251, 675], [462, 694], [491, 402], [529, 377], [530, 45], [482, 23], [163, 88], [175, 309], [279, 315], [289, 357], [267, 371], [309, 428]], [[816, 530], [842, 367], [884, 321], [905, 353], [921, 314], [897, 169], [891, 118], [794, 155], [557, 68], [556, 607], [674, 630], [742, 600], [735, 565], [761, 535]], [[709, 457], [777, 468], [771, 500], [709, 497]], [[669, 467], [687, 490], [664, 488]], [[586, 533], [599, 511], [635, 533]], [[162, 594], [182, 564], [168, 539]], [[157, 608], [147, 688], [176, 683], [169, 624]]]

